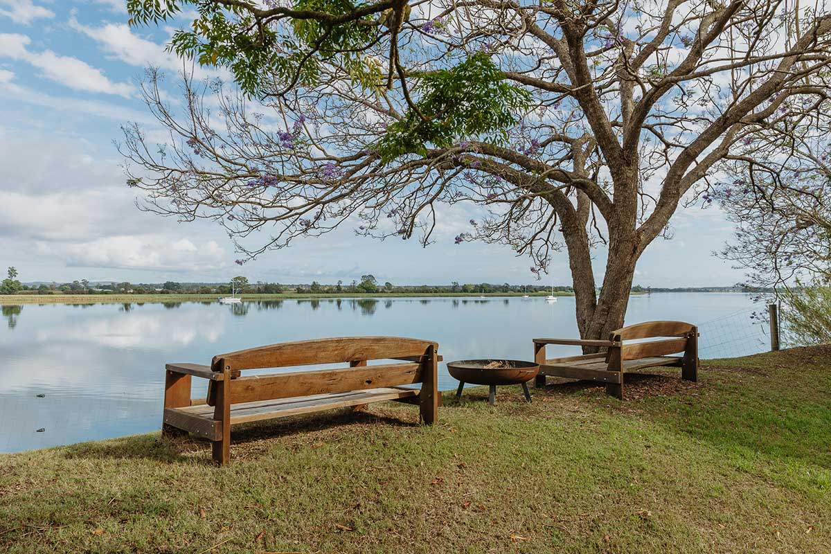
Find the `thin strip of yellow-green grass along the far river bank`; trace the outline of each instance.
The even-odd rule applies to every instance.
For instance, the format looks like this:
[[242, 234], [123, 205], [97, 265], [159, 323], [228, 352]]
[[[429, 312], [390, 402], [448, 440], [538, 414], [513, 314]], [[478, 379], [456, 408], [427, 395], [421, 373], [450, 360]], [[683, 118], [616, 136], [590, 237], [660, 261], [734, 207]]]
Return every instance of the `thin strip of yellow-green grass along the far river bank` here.
[[[523, 297], [524, 292], [378, 292], [375, 294], [342, 292], [303, 294], [297, 292], [283, 292], [282, 294], [238, 294], [244, 301], [258, 300], [297, 300], [297, 299], [327, 299], [327, 298], [500, 298]], [[529, 297], [547, 297], [551, 292], [529, 292]], [[219, 297], [227, 294], [12, 294], [0, 295], [0, 305], [21, 304], [98, 304], [104, 302], [216, 302]], [[571, 297], [572, 292], [554, 292], [555, 297]]]

